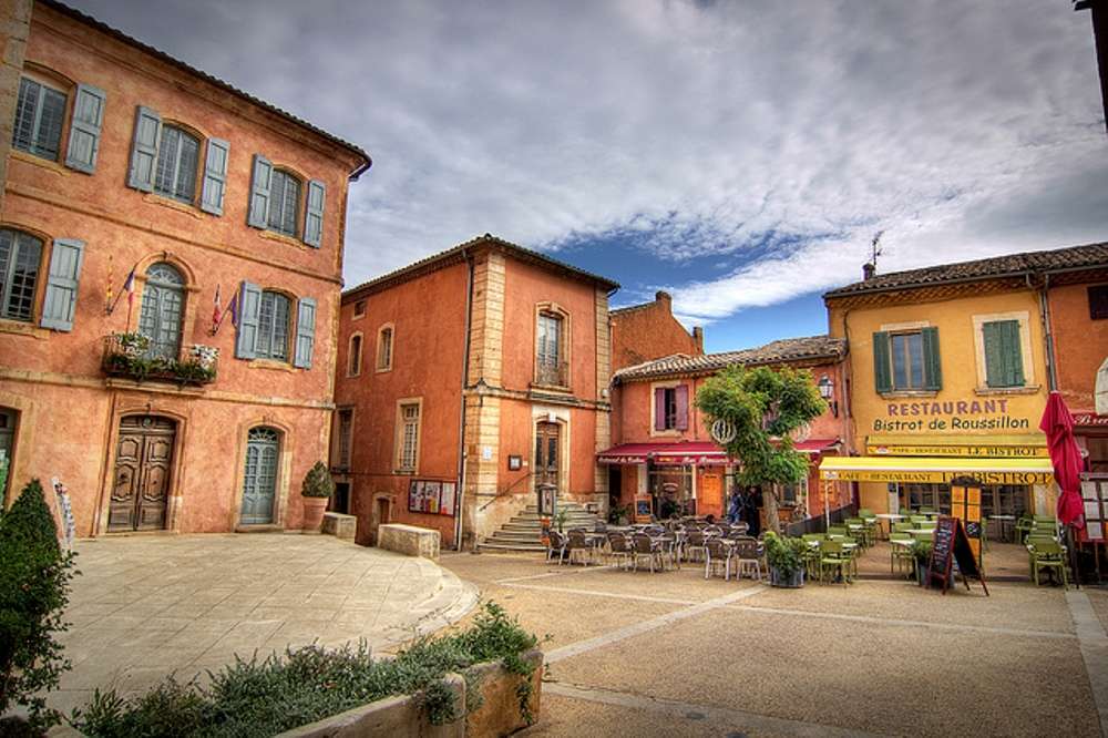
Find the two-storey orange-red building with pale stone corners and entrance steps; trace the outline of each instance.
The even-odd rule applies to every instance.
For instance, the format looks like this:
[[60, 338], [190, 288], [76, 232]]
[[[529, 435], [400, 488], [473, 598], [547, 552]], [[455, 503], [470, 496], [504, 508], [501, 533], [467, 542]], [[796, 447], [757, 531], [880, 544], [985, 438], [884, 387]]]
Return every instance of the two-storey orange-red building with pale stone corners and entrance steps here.
[[331, 468], [358, 540], [469, 546], [542, 485], [605, 501], [616, 288], [486, 234], [345, 293]]

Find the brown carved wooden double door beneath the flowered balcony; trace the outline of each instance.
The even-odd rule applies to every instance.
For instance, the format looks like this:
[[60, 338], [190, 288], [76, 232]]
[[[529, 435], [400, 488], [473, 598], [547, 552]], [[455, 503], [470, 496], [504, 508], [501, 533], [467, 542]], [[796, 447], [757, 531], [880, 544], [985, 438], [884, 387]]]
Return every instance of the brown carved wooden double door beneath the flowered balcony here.
[[109, 532], [164, 529], [177, 424], [160, 416], [120, 421]]

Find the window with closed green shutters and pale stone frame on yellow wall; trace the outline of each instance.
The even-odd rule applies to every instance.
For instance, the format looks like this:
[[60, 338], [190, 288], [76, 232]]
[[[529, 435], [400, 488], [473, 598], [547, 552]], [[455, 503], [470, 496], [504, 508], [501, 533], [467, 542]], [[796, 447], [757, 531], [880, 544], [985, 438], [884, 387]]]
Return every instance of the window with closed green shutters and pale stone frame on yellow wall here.
[[1033, 388], [1028, 311], [975, 315], [977, 391]]

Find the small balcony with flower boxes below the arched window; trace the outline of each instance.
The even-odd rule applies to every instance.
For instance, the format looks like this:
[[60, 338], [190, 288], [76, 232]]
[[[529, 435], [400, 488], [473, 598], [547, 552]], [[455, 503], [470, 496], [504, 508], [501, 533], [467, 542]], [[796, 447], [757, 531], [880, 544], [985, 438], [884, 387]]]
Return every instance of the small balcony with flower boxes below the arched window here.
[[215, 381], [218, 361], [214, 346], [182, 346], [176, 358], [167, 358], [151, 350], [150, 338], [142, 334], [104, 337], [102, 367], [109, 377], [198, 387]]

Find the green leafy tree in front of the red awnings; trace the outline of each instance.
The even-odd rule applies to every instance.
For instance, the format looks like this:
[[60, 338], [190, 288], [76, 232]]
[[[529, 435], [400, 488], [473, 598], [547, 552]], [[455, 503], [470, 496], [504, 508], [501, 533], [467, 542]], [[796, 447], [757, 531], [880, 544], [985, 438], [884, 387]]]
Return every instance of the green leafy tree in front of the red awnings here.
[[808, 460], [792, 448], [790, 434], [827, 411], [812, 373], [728, 367], [704, 383], [696, 407], [709, 427], [726, 426], [728, 432], [717, 440], [741, 462], [736, 483], [761, 486], [770, 530], [780, 532], [777, 485], [798, 484], [808, 475]]

